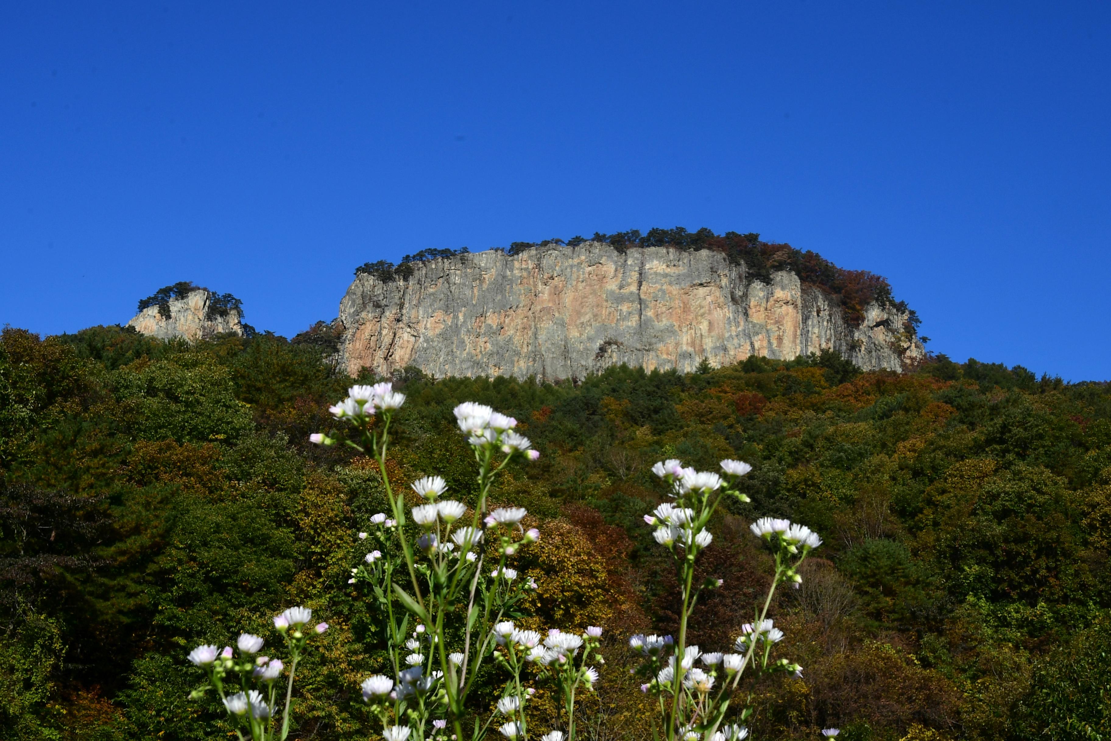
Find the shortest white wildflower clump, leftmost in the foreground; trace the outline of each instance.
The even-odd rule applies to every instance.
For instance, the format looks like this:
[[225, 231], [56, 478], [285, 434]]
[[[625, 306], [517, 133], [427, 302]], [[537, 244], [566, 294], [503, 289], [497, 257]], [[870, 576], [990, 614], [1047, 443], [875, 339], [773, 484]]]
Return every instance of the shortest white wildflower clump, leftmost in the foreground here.
[[324, 622], [310, 628], [311, 620], [312, 610], [300, 607], [290, 608], [273, 619], [274, 630], [286, 643], [288, 669], [281, 659], [263, 655], [264, 640], [251, 633], [240, 634], [236, 642], [238, 654], [230, 645], [223, 651], [210, 644], [197, 647], [188, 659], [204, 671], [208, 683], [193, 690], [190, 699], [200, 700], [209, 690], [214, 690], [240, 741], [283, 740], [290, 730], [297, 664], [309, 638], [328, 630]]

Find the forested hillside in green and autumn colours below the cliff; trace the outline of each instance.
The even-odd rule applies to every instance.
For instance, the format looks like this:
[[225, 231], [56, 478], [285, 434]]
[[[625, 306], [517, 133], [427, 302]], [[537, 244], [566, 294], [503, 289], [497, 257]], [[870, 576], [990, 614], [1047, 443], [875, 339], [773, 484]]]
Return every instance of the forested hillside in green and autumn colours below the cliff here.
[[[198, 641], [263, 631], [304, 603], [331, 629], [304, 662], [291, 738], [367, 739], [359, 682], [382, 668], [350, 569], [383, 509], [377, 468], [311, 445], [352, 379], [311, 337], [198, 344], [119, 328], [0, 339], [0, 737], [228, 738], [190, 702]], [[363, 378], [362, 381], [370, 380]], [[1022, 368], [860, 373], [825, 353], [680, 375], [611, 368], [577, 385], [394, 380], [408, 395], [391, 478], [474, 493], [451, 409], [514, 415], [540, 450], [493, 499], [543, 537], [517, 557], [530, 614], [604, 627], [591, 739], [651, 730], [623, 648], [670, 631], [677, 583], [642, 515], [649, 468], [752, 464], [711, 528], [724, 583], [693, 640], [751, 619], [768, 555], [748, 533], [788, 517], [825, 540], [772, 612], [802, 679], [758, 688], [753, 738], [1111, 738], [1111, 390]], [[491, 699], [492, 701], [493, 699]]]

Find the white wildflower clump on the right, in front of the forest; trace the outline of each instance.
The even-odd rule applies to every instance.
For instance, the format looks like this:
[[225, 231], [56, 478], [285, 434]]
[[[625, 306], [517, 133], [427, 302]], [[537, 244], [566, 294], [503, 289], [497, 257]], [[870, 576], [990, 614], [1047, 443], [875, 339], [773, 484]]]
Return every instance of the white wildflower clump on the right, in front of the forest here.
[[797, 663], [772, 657], [783, 632], [768, 618], [768, 609], [780, 584], [801, 583], [799, 565], [822, 541], [808, 528], [789, 520], [762, 518], [751, 525], [752, 533], [771, 549], [775, 572], [763, 603], [757, 605], [753, 621], [742, 627], [732, 651], [703, 652], [698, 645], [687, 644], [688, 621], [699, 597], [721, 585], [712, 578], [694, 582], [699, 554], [713, 541], [707, 524], [725, 497], [749, 501], [737, 490], [737, 482], [751, 467], [724, 460], [721, 470], [724, 477], [684, 468], [678, 460], [661, 461], [652, 468], [669, 487], [673, 501], [660, 504], [644, 515], [644, 521], [654, 528], [655, 542], [668, 550], [675, 564], [682, 589], [679, 634], [638, 634], [629, 645], [643, 658], [640, 672], [648, 681], [641, 690], [658, 698], [661, 729], [668, 741], [740, 741], [749, 733], [742, 723], [752, 713], [751, 694], [739, 712], [732, 713], [737, 722], [729, 723], [727, 718], [733, 699], [751, 687], [750, 680], [770, 672], [802, 675]]

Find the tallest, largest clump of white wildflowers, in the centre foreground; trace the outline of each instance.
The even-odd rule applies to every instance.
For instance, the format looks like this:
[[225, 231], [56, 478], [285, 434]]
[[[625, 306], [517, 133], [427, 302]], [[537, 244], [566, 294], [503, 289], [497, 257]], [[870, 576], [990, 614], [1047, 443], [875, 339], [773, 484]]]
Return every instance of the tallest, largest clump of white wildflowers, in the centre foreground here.
[[[491, 729], [510, 741], [529, 738], [530, 684], [550, 680], [563, 699], [567, 734], [574, 739], [574, 698], [598, 681], [589, 665], [598, 653], [600, 628], [579, 635], [558, 629], [547, 635], [517, 628], [507, 617], [536, 589], [518, 577], [508, 559], [540, 538], [521, 524], [523, 508], [488, 508], [490, 488], [511, 460], [536, 460], [539, 452], [518, 433], [517, 420], [473, 402], [459, 404], [454, 415], [474, 453], [478, 499], [473, 508], [446, 497], [438, 475], [412, 484], [420, 503], [408, 507], [406, 491], [392, 485], [386, 464], [390, 425], [404, 403], [390, 383], [354, 385], [331, 407], [343, 433], [313, 434], [331, 445], [343, 442], [372, 455], [386, 487], [390, 512], [371, 518], [359, 533], [369, 550], [352, 569], [350, 582], [369, 588], [370, 599], [386, 620], [389, 674], [362, 682], [362, 695], [382, 724], [387, 741], [480, 740]], [[483, 664], [492, 661], [507, 681], [494, 712], [468, 704]], [[483, 718], [483, 715], [486, 715]], [[463, 732], [463, 721], [474, 718]], [[451, 725], [449, 731], [448, 725]], [[562, 741], [551, 731], [544, 741]]]

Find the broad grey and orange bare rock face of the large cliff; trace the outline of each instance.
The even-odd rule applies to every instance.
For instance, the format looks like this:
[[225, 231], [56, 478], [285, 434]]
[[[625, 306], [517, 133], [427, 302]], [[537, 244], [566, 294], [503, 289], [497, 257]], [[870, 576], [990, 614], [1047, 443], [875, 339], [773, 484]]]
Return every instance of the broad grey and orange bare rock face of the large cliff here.
[[869, 304], [860, 327], [792, 272], [765, 283], [714, 251], [609, 244], [500, 250], [413, 263], [409, 277], [360, 274], [340, 302], [339, 362], [389, 374], [583, 378], [607, 366], [693, 371], [752, 354], [832, 348], [865, 370], [923, 357], [905, 314]]

